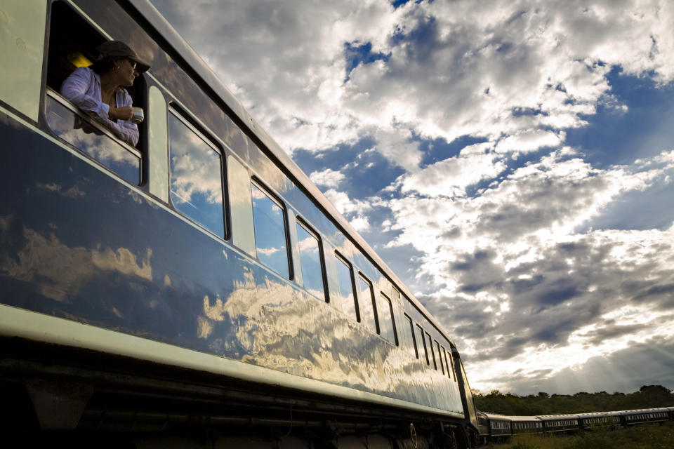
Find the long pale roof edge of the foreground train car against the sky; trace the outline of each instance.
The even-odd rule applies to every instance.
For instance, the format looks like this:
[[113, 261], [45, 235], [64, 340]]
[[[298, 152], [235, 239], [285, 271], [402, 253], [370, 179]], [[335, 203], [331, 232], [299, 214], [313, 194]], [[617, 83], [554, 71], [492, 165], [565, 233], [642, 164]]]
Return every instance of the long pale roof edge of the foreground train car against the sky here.
[[242, 105], [234, 94], [225, 86], [225, 83], [221, 81], [218, 76], [213, 72], [213, 70], [206, 65], [206, 62], [201, 59], [196, 51], [183, 39], [178, 32], [171, 26], [171, 24], [164, 18], [157, 8], [155, 8], [150, 1], [147, 0], [129, 0], [131, 6], [138, 11], [140, 15], [147, 20], [147, 22], [154, 28], [154, 30], [161, 35], [163, 39], [169, 44], [169, 47], [173, 49], [180, 58], [182, 58], [185, 63], [192, 69], [193, 72], [196, 72], [197, 76], [201, 78], [201, 81], [205, 83], [211, 91], [217, 97], [229, 107], [234, 114], [239, 116], [244, 122], [244, 126], [249, 128], [251, 132], [256, 135], [260, 142], [265, 145], [266, 149], [272, 157], [277, 159], [279, 163], [285, 168], [287, 174], [289, 174], [293, 180], [302, 187], [305, 192], [308, 192], [310, 196], [317, 201], [319, 206], [331, 217], [331, 219], [336, 222], [336, 225], [342, 229], [342, 231], [347, 234], [352, 241], [354, 241], [357, 246], [363, 251], [366, 257], [369, 257], [378, 267], [382, 270], [385, 276], [393, 281], [397, 288], [404, 293], [405, 296], [414, 304], [414, 306], [419, 309], [432, 323], [437, 330], [447, 338], [449, 342], [454, 344], [453, 339], [449, 337], [447, 332], [442, 328], [440, 323], [430, 314], [428, 310], [423, 307], [423, 304], [419, 302], [416, 297], [407, 289], [402, 281], [392, 272], [387, 264], [381, 260], [381, 257], [369, 246], [369, 244], [356, 232], [356, 230], [351, 226], [351, 224], [338, 212], [338, 210], [333, 206], [333, 204], [324, 196], [324, 194], [314, 185], [309, 177], [299, 168], [299, 166], [286, 154], [284, 149], [263, 129], [262, 126], [256, 121], [256, 119], [251, 116], [251, 114], [246, 110], [244, 105]]

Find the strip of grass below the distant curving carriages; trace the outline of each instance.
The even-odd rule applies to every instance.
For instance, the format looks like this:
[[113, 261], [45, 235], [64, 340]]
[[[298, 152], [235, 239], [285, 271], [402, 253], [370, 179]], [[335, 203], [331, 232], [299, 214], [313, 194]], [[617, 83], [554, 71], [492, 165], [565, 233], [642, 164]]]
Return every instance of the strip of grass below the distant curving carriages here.
[[489, 445], [498, 449], [672, 449], [674, 423], [630, 429], [595, 430], [573, 436], [516, 435], [510, 443]]

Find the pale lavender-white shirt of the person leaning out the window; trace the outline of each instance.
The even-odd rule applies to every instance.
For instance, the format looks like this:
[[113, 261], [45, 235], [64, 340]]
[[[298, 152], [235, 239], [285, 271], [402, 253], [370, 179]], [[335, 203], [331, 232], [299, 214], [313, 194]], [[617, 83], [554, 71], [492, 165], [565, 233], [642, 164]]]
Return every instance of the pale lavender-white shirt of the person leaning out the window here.
[[[102, 100], [100, 93], [100, 76], [89, 67], [77, 67], [67, 77], [61, 86], [61, 95], [70, 100], [98, 123], [102, 123], [121, 140], [129, 145], [136, 146], [138, 143], [138, 126], [126, 120], [117, 120], [117, 123], [108, 119], [110, 105]], [[117, 107], [131, 106], [133, 100], [126, 89], [117, 88], [114, 93]]]

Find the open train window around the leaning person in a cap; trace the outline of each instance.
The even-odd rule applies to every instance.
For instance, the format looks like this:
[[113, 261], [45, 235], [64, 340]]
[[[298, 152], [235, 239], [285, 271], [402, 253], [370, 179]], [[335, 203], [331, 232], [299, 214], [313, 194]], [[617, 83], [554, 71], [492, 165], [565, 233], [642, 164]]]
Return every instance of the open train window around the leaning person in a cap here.
[[[98, 53], [96, 48], [107, 39], [62, 1], [52, 5], [49, 29], [45, 99], [49, 128], [95, 161], [140, 185], [140, 149], [145, 147], [145, 124], [138, 124], [138, 144], [135, 147], [128, 145], [59, 94], [63, 81], [77, 67], [91, 65]], [[143, 75], [140, 75], [133, 86], [126, 88], [133, 105], [144, 110], [147, 110], [146, 87]]]

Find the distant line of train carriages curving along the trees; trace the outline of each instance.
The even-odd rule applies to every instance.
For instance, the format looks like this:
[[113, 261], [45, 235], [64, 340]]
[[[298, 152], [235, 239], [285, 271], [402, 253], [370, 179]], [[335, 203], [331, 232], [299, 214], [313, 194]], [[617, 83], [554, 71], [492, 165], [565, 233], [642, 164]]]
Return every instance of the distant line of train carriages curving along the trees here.
[[606, 427], [630, 427], [637, 424], [674, 420], [674, 407], [579, 413], [577, 415], [506, 416], [477, 413], [480, 443], [498, 443], [517, 434], [568, 434]]

